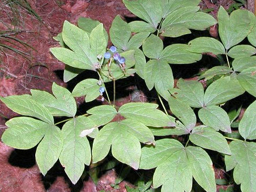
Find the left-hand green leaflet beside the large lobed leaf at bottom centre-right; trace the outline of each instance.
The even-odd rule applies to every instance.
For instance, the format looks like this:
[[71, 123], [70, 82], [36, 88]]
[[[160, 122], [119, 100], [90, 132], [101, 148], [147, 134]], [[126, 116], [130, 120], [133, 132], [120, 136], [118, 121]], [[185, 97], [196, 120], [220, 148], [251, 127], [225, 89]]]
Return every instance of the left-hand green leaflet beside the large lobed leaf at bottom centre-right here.
[[184, 149], [183, 145], [174, 139], [157, 140], [155, 146], [145, 146], [141, 149], [140, 169], [153, 169], [164, 163], [175, 151]]

